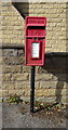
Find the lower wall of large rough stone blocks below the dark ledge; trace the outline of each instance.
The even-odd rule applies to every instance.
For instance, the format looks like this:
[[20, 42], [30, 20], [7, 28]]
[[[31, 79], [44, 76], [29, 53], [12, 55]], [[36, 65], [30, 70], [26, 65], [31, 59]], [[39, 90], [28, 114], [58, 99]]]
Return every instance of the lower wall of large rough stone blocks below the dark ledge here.
[[[0, 92], [2, 92], [2, 96], [17, 94], [23, 96], [24, 100], [28, 98], [29, 101], [31, 67], [24, 65], [24, 50], [3, 49], [1, 65], [2, 89], [0, 89]], [[68, 95], [66, 93], [67, 69], [66, 56], [46, 55], [44, 66], [36, 66], [36, 100], [66, 103]]]

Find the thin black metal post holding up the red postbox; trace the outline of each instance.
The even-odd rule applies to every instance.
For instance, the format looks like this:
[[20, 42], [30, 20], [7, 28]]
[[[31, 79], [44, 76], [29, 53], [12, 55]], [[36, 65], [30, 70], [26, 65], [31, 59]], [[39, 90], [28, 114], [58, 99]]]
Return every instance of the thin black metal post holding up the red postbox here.
[[30, 77], [30, 113], [33, 113], [35, 103], [35, 66], [31, 66], [31, 77]]

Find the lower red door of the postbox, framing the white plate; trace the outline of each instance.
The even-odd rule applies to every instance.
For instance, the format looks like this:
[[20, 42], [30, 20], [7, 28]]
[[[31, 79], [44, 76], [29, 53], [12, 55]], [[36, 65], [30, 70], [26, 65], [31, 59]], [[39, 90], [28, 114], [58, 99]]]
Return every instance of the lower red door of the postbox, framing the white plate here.
[[39, 39], [35, 41], [32, 39], [27, 39], [26, 42], [27, 46], [25, 52], [27, 65], [43, 65], [45, 40]]

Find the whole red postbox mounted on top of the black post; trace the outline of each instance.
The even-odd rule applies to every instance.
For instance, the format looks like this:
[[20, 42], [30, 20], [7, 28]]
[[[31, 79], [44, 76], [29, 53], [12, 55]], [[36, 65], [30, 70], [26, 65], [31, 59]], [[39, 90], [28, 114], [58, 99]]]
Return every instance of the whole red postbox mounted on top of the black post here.
[[42, 66], [45, 53], [46, 17], [26, 16], [25, 61], [28, 66]]

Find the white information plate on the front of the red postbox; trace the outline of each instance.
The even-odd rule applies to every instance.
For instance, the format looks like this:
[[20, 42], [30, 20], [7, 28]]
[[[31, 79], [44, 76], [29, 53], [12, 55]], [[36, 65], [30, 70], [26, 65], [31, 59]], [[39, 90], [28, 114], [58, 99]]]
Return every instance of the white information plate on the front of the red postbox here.
[[31, 43], [31, 57], [39, 57], [39, 42]]

